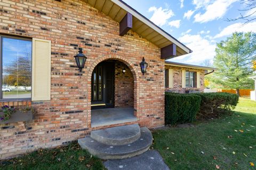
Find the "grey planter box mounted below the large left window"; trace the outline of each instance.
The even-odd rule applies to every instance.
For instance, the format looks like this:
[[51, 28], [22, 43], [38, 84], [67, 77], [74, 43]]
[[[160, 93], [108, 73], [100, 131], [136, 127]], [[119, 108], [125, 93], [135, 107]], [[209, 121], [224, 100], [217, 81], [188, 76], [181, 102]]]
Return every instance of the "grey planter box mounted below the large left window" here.
[[11, 114], [11, 117], [9, 118], [9, 120], [0, 121], [0, 124], [32, 121], [33, 117], [34, 116], [32, 111], [27, 111], [27, 112], [19, 111]]

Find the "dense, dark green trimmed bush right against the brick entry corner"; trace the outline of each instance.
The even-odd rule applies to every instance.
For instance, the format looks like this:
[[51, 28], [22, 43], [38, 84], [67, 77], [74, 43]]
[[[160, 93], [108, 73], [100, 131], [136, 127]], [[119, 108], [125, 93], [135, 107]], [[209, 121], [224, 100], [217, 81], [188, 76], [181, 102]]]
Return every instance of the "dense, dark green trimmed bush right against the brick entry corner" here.
[[177, 124], [192, 122], [196, 118], [201, 97], [191, 94], [165, 93], [165, 123]]

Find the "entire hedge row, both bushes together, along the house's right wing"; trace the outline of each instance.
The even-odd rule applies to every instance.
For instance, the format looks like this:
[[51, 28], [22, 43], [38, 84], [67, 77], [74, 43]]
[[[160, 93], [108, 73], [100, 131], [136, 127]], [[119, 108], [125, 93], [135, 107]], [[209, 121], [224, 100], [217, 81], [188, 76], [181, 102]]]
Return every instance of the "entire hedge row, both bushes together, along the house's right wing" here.
[[226, 92], [201, 94], [165, 93], [165, 124], [188, 123], [231, 113], [238, 95]]

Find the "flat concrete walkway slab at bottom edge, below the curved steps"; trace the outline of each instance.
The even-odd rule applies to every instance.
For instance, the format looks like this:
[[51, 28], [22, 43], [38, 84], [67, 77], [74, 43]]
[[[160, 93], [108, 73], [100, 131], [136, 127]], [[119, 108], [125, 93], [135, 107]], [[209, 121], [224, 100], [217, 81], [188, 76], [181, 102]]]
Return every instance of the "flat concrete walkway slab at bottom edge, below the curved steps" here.
[[132, 158], [108, 160], [104, 165], [108, 170], [170, 170], [156, 150]]

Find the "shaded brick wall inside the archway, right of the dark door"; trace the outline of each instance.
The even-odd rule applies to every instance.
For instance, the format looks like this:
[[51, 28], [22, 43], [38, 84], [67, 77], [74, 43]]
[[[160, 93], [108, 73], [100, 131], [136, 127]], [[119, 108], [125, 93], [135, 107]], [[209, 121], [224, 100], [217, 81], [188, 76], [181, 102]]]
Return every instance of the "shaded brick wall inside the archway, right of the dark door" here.
[[[123, 73], [125, 69], [125, 73]], [[133, 107], [133, 74], [122, 62], [115, 63], [115, 107]]]

